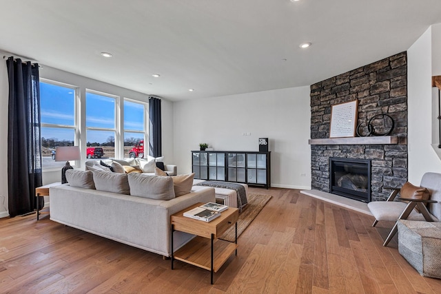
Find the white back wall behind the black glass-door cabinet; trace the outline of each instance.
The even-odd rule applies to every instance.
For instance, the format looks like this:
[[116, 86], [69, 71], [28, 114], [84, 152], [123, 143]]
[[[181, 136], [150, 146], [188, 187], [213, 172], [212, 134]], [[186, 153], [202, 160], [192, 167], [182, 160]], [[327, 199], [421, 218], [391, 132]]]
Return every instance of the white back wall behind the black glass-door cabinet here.
[[269, 138], [271, 186], [311, 189], [309, 104], [309, 87], [174, 103], [178, 172], [192, 171], [190, 151], [199, 143], [214, 150], [258, 151], [258, 138]]

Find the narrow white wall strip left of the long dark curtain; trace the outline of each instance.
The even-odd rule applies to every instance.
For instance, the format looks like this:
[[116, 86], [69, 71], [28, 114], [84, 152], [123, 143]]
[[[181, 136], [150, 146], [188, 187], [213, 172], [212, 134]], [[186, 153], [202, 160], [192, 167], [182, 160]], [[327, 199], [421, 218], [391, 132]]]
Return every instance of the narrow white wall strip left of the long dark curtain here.
[[0, 218], [8, 211], [8, 71], [6, 61], [0, 61]]

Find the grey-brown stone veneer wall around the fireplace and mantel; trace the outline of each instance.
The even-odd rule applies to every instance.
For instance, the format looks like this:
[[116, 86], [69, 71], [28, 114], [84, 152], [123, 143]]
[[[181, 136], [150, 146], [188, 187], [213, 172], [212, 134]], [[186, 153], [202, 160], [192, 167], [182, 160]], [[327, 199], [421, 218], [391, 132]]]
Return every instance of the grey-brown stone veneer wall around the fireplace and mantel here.
[[[384, 200], [383, 187], [401, 187], [407, 181], [407, 54], [359, 67], [311, 85], [311, 138], [329, 138], [331, 105], [358, 100], [358, 123], [376, 114], [395, 120], [391, 136], [398, 145], [311, 145], [311, 187], [329, 192], [329, 158], [371, 160], [371, 200]], [[376, 129], [383, 120], [374, 122]], [[363, 128], [362, 128], [363, 129]]]

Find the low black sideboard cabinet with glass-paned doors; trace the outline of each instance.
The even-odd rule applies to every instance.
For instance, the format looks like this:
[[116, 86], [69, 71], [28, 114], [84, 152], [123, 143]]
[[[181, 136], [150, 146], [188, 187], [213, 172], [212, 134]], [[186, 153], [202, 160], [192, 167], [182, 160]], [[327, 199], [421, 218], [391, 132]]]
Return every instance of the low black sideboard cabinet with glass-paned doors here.
[[271, 186], [270, 151], [192, 151], [194, 178]]

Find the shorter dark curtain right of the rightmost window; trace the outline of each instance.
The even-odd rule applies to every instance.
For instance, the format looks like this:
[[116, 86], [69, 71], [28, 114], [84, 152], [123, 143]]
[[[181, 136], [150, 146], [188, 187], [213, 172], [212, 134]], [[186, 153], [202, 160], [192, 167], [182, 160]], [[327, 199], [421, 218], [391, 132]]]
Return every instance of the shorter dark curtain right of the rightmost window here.
[[149, 98], [149, 155], [162, 156], [161, 99]]

